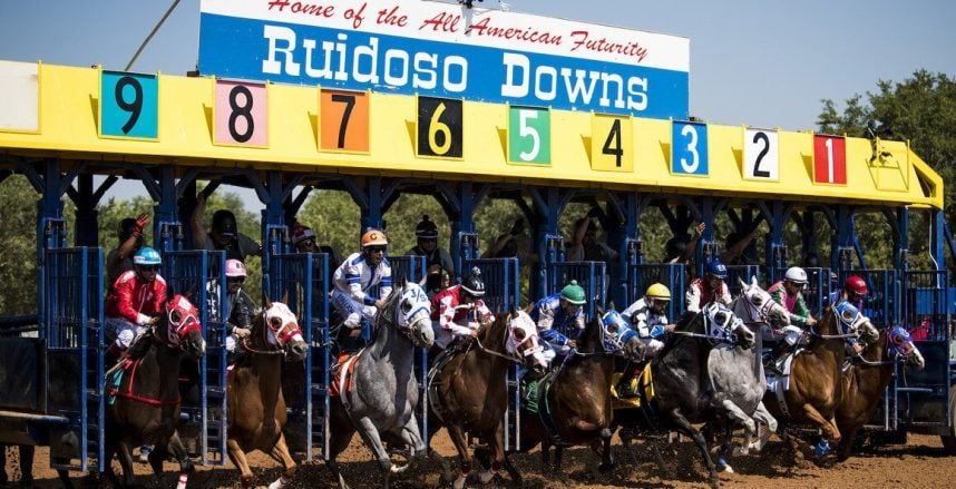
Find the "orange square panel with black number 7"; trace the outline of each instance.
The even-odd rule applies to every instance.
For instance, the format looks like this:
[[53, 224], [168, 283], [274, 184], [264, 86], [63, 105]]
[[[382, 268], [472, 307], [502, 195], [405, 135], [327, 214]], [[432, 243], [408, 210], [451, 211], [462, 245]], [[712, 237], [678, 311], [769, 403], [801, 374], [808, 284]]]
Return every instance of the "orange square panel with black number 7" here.
[[319, 149], [369, 153], [371, 114], [368, 91], [319, 92]]

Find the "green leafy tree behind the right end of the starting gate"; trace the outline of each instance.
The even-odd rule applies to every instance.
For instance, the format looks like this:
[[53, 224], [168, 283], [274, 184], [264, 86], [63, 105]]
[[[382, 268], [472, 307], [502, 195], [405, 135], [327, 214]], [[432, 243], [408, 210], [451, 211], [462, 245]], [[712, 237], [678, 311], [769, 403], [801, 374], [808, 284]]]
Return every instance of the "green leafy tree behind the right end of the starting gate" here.
[[[956, 79], [945, 74], [918, 70], [901, 82], [879, 80], [877, 89], [866, 94], [866, 101], [860, 95], [847, 99], [842, 113], [832, 100], [822, 100], [818, 129], [826, 134], [867, 137], [867, 128], [870, 127], [877, 136], [909, 140], [913, 150], [943, 177], [946, 222], [956, 222], [956, 208], [953, 206], [956, 188], [949, 185], [956, 182], [956, 135], [953, 133], [956, 126]], [[887, 245], [887, 233], [872, 226], [885, 226], [885, 222], [872, 217], [858, 221], [858, 235], [865, 250]], [[930, 267], [926, 253], [927, 234], [928, 219], [914, 218], [909, 248], [916, 268]]]

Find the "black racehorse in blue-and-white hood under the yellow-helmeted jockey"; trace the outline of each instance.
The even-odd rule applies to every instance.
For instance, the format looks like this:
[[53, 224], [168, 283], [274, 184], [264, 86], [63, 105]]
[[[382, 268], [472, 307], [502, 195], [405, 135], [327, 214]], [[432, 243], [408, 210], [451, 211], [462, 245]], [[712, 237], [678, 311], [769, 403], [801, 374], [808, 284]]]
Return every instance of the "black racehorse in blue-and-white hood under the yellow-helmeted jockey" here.
[[[708, 422], [719, 414], [713, 389], [704, 379], [709, 356], [715, 344], [731, 343], [742, 349], [753, 348], [754, 333], [726, 306], [709, 303], [700, 312], [686, 312], [667, 335], [664, 348], [651, 360], [650, 385], [646, 373], [638, 382], [641, 408], [615, 412], [615, 424], [623, 427], [625, 444], [635, 431], [675, 429], [694, 440], [710, 475], [712, 487], [719, 486], [716, 466], [711, 459], [704, 437], [691, 423]], [[750, 371], [750, 366], [747, 368]], [[648, 399], [648, 391], [654, 395]], [[722, 408], [721, 408], [722, 409]], [[659, 458], [659, 464], [661, 462]]]

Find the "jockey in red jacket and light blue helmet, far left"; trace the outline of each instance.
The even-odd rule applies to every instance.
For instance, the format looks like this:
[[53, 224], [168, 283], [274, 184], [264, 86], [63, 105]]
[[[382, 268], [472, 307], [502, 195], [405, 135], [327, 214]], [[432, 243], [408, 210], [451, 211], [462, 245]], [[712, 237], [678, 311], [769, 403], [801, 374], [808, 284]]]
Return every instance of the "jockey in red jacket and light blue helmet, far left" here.
[[159, 252], [144, 246], [133, 256], [133, 270], [119, 275], [106, 299], [107, 332], [116, 335], [107, 353], [120, 358], [156, 322], [166, 301], [159, 276]]

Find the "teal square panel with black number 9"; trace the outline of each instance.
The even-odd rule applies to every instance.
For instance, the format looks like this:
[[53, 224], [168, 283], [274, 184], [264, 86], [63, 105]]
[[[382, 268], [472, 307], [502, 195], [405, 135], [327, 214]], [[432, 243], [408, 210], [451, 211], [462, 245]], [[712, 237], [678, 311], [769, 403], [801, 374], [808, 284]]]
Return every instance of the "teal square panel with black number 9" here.
[[159, 138], [159, 78], [156, 75], [100, 72], [99, 136]]

